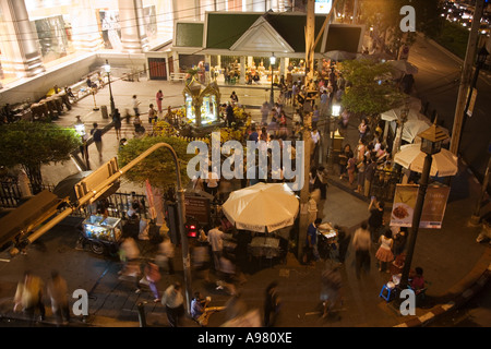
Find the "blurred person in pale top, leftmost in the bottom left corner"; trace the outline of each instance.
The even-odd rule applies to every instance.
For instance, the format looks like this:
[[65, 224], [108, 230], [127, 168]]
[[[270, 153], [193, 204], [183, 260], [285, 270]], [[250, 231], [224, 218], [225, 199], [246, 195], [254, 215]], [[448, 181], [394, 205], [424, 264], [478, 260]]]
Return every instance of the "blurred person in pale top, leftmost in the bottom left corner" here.
[[36, 309], [39, 310], [40, 321], [45, 320], [44, 282], [31, 270], [24, 273], [24, 280], [19, 282], [14, 297], [14, 311], [23, 311], [34, 320]]

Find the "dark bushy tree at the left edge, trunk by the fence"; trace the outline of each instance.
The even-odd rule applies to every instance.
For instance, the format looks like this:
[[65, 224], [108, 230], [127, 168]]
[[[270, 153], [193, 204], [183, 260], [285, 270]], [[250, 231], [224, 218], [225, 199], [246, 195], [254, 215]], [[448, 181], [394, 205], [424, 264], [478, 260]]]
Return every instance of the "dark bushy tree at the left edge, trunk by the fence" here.
[[81, 145], [74, 129], [53, 123], [19, 121], [0, 127], [0, 166], [21, 165], [33, 193], [41, 190], [41, 165], [63, 163]]

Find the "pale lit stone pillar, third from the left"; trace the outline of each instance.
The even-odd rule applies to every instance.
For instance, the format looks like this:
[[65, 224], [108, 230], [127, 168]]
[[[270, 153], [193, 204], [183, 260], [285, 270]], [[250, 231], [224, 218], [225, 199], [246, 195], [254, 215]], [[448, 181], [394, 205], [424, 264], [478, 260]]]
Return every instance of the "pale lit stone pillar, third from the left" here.
[[118, 0], [122, 50], [142, 53], [148, 50], [142, 0]]

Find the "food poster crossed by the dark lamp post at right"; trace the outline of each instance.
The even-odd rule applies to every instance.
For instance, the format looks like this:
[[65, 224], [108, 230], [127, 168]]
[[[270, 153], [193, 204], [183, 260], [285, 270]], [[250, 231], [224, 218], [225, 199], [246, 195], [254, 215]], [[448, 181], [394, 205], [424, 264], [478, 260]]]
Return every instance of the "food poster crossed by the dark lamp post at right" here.
[[[414, 212], [418, 198], [419, 185], [397, 184], [391, 213], [391, 226], [412, 227]], [[419, 228], [442, 228], [448, 200], [450, 186], [430, 185], [424, 195], [424, 203], [419, 220]]]

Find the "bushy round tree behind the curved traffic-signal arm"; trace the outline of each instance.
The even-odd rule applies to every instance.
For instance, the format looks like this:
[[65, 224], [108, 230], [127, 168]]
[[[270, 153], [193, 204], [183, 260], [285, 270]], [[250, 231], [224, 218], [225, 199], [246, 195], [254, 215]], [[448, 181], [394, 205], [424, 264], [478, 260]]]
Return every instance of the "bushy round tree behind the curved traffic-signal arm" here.
[[[145, 136], [143, 139], [132, 139], [118, 153], [120, 167], [124, 167], [143, 152], [157, 143], [167, 143], [172, 146], [181, 168], [182, 186], [185, 186], [190, 178], [187, 174], [188, 161], [194, 154], [187, 154], [188, 141], [171, 136]], [[133, 167], [125, 174], [131, 182], [143, 183], [148, 179], [152, 186], [165, 189], [176, 184], [176, 165], [173, 157], [167, 148], [159, 148], [148, 155], [144, 160]]]

